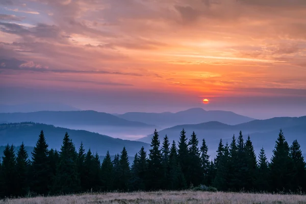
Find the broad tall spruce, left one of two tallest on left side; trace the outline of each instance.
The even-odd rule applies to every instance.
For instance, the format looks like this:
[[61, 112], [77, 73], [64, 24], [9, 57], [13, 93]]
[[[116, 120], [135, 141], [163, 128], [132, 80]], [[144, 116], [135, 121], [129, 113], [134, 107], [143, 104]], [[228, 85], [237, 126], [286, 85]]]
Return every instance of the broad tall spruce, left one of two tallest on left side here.
[[41, 131], [32, 152], [31, 167], [31, 190], [39, 195], [47, 195], [50, 190], [49, 183], [52, 172], [50, 172], [48, 154], [48, 144], [46, 143], [43, 131]]

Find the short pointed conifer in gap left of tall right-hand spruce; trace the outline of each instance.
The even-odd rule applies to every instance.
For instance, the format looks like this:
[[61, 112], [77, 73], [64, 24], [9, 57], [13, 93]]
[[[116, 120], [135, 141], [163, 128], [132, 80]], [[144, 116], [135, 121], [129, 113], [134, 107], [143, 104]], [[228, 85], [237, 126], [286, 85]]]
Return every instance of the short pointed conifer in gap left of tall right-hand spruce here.
[[255, 187], [259, 191], [269, 191], [270, 169], [264, 148], [260, 150], [258, 159], [258, 173]]

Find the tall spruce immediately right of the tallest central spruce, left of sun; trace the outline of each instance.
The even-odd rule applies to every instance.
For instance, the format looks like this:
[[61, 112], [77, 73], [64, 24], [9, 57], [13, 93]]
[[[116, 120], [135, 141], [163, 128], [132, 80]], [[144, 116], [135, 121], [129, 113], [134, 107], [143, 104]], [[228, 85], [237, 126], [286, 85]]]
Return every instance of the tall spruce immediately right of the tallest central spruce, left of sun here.
[[201, 165], [200, 151], [198, 148], [198, 139], [193, 132], [189, 140], [189, 183], [198, 186], [203, 181], [203, 170]]

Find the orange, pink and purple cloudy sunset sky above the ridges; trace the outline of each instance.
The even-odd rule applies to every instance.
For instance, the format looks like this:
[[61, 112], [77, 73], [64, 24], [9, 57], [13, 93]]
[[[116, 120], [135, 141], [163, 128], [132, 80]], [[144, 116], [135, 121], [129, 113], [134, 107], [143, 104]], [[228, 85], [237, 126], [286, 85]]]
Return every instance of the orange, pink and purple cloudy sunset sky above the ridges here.
[[306, 115], [305, 13], [305, 0], [0, 0], [0, 104]]

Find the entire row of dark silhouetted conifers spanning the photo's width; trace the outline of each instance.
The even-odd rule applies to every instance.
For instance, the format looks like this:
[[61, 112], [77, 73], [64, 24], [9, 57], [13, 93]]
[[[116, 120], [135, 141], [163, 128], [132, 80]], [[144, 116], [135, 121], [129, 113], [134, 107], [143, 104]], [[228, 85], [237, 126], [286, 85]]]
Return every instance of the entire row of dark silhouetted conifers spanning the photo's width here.
[[217, 156], [210, 159], [205, 139], [199, 146], [193, 132], [183, 129], [176, 144], [167, 135], [160, 143], [155, 130], [149, 152], [142, 147], [132, 165], [123, 147], [111, 160], [109, 151], [100, 163], [97, 153], [79, 150], [65, 134], [59, 151], [48, 149], [41, 131], [31, 160], [22, 143], [17, 156], [7, 145], [0, 164], [0, 196], [58, 195], [79, 192], [182, 190], [199, 185], [220, 191], [305, 192], [306, 167], [299, 143], [291, 146], [279, 132], [268, 162], [264, 148], [259, 157], [250, 137], [242, 132], [232, 142], [220, 140]]

